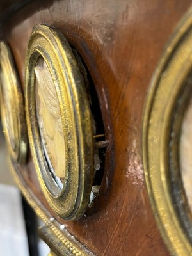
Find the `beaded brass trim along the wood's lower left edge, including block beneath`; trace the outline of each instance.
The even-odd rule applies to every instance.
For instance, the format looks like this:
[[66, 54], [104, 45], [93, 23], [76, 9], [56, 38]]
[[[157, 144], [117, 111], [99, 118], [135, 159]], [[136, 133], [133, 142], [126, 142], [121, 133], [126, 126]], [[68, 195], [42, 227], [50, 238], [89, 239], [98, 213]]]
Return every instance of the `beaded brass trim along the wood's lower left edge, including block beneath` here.
[[63, 225], [60, 225], [58, 221], [52, 218], [42, 202], [40, 202], [35, 194], [28, 188], [22, 175], [20, 175], [19, 168], [19, 164], [11, 163], [10, 161], [10, 170], [13, 173], [13, 177], [19, 186], [20, 191], [22, 191], [22, 195], [24, 195], [28, 204], [31, 205], [36, 212], [38, 218], [44, 222], [45, 226], [41, 228], [42, 232], [40, 232], [40, 236], [49, 244], [52, 251], [54, 251], [54, 253], [60, 253], [62, 256], [94, 256], [93, 253], [83, 246], [83, 244], [80, 244], [79, 241], [77, 241], [76, 238], [63, 227]]

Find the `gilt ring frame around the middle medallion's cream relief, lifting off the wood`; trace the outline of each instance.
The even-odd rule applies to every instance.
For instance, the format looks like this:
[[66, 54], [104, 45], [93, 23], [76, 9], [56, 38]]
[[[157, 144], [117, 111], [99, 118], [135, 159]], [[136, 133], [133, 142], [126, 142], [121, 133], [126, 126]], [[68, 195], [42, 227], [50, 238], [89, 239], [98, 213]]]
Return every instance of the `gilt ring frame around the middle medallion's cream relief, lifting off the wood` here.
[[[60, 103], [66, 159], [63, 189], [52, 182], [40, 141], [35, 102], [35, 65], [43, 58], [51, 72]], [[83, 76], [67, 39], [39, 24], [26, 54], [26, 116], [29, 142], [40, 186], [52, 209], [65, 220], [83, 216], [93, 184], [93, 124]]]

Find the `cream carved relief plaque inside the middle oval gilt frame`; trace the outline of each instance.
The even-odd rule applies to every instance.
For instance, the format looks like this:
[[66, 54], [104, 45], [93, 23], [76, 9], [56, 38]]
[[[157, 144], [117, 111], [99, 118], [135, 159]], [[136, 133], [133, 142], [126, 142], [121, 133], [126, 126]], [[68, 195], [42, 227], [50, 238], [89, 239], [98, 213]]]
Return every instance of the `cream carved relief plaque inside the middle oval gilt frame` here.
[[36, 65], [35, 76], [36, 110], [42, 147], [49, 170], [59, 188], [62, 188], [61, 180], [65, 177], [65, 137], [60, 102], [51, 72], [44, 60], [42, 65]]

